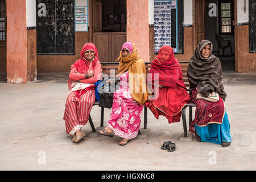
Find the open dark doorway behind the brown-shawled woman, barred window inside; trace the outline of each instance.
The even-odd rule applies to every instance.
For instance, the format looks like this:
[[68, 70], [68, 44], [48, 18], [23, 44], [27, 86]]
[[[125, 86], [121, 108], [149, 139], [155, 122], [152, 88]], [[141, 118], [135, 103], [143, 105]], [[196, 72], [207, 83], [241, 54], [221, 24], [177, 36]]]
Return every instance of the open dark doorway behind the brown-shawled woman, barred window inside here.
[[204, 18], [205, 39], [213, 43], [222, 71], [234, 71], [234, 0], [205, 0]]

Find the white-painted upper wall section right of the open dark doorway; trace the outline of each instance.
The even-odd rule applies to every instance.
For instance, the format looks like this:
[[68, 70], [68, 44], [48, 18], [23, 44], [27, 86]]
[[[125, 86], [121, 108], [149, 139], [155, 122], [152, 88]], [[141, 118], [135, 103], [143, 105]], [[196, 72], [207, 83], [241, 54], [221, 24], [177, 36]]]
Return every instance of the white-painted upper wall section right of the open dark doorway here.
[[237, 23], [249, 22], [249, 0], [237, 0]]

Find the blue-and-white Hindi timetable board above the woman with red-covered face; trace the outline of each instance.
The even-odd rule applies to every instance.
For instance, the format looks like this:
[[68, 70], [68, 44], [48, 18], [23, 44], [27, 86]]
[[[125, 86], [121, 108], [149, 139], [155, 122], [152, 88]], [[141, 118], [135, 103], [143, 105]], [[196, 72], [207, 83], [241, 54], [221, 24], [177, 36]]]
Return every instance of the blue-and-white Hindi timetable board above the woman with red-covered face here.
[[154, 0], [155, 53], [162, 46], [171, 46], [177, 53], [177, 0]]

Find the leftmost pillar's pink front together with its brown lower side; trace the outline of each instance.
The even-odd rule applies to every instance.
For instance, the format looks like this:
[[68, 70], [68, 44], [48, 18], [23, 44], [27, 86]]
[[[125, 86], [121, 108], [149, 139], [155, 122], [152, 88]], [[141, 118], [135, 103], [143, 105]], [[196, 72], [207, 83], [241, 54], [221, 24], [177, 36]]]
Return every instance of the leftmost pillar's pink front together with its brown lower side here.
[[27, 32], [27, 2], [6, 1], [6, 72], [9, 83], [27, 83], [36, 78], [36, 32]]

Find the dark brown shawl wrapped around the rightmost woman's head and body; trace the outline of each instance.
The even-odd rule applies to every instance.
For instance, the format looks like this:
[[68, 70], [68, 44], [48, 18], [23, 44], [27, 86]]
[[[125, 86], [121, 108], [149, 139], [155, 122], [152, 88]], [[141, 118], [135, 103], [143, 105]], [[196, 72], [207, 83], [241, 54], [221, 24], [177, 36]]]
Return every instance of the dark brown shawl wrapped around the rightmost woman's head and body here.
[[[207, 58], [201, 56], [201, 49], [210, 44], [210, 55]], [[188, 64], [187, 76], [191, 89], [204, 97], [217, 92], [225, 100], [226, 93], [222, 84], [222, 69], [218, 57], [212, 54], [213, 45], [209, 40], [201, 40]]]

